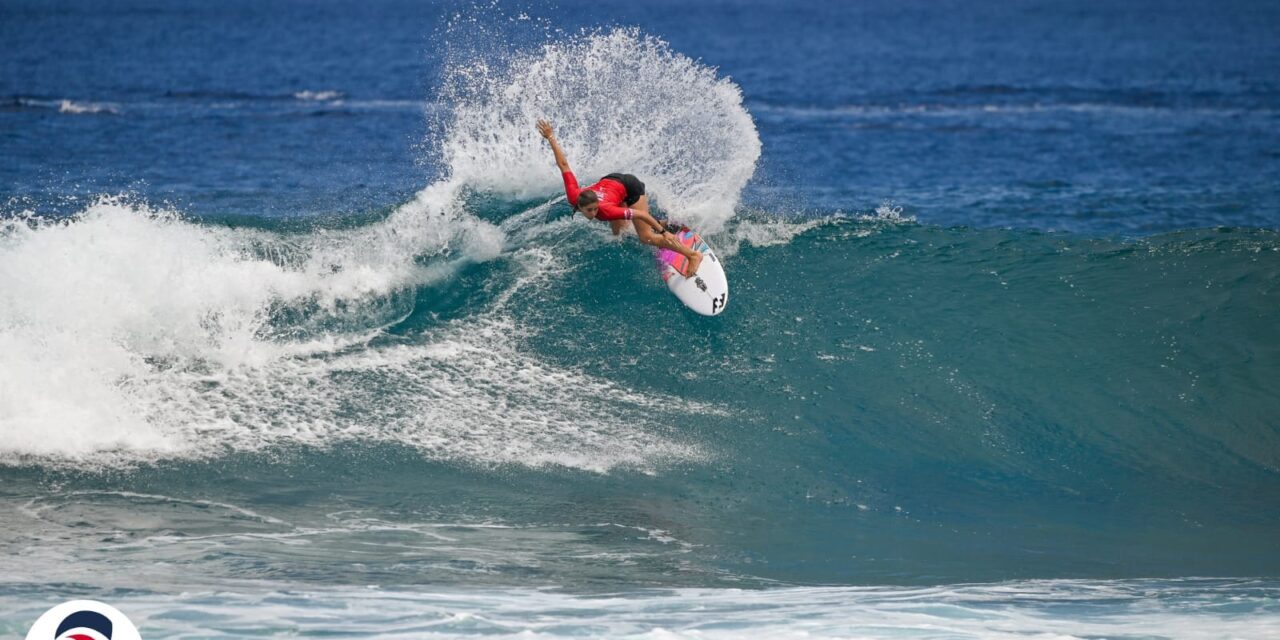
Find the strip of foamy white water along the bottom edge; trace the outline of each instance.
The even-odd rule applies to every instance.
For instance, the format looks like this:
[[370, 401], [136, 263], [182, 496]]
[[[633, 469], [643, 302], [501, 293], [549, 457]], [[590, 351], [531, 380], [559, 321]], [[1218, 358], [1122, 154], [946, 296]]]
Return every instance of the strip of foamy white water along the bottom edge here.
[[[125, 595], [152, 636], [244, 637], [1271, 637], [1275, 582], [1034, 581], [940, 588], [564, 595], [325, 590]], [[38, 607], [17, 604], [35, 618]], [[22, 628], [12, 625], [13, 632]]]

